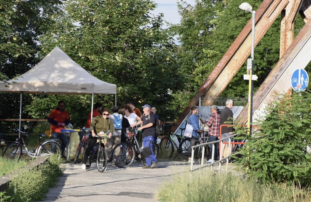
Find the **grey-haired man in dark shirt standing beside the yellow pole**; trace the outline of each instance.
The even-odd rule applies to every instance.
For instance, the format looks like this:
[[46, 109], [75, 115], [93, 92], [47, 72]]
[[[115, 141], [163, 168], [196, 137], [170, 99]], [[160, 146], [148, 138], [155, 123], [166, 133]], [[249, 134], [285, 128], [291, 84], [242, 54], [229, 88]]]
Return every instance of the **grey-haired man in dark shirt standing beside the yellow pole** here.
[[[232, 122], [233, 122], [233, 112], [231, 110], [232, 107], [233, 107], [233, 101], [228, 99], [226, 101], [225, 108], [221, 110], [220, 112], [220, 125], [222, 124], [232, 125]], [[231, 122], [231, 123], [225, 123], [225, 122]], [[230, 135], [232, 135], [232, 132], [233, 132], [233, 127], [222, 127], [221, 128], [221, 139], [229, 137]], [[233, 138], [231, 138], [231, 141], [233, 142]], [[229, 142], [229, 138], [223, 141], [223, 143], [225, 142]], [[233, 150], [233, 146], [231, 146], [229, 154], [231, 154], [232, 150]], [[222, 155], [224, 155], [224, 151], [225, 151], [225, 146], [223, 146], [222, 148]], [[221, 158], [223, 158], [223, 156]]]

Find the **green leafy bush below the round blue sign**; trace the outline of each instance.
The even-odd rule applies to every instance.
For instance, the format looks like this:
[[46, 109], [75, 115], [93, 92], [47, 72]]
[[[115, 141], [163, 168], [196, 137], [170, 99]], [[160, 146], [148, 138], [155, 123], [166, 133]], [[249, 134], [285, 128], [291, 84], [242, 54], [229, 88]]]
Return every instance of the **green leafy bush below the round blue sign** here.
[[259, 125], [260, 132], [248, 140], [241, 150], [244, 158], [238, 160], [248, 174], [263, 183], [294, 181], [309, 186], [311, 156], [306, 146], [311, 145], [311, 93], [283, 96], [275, 95]]

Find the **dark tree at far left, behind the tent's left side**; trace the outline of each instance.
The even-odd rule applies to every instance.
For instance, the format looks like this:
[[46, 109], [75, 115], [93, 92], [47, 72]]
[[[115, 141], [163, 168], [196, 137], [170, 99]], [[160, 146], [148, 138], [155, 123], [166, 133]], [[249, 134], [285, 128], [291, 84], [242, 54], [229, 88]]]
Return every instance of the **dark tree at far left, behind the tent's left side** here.
[[[39, 36], [53, 24], [59, 0], [0, 0], [0, 81], [21, 75], [38, 62]], [[19, 94], [1, 93], [0, 118], [19, 116]], [[23, 107], [31, 103], [24, 95]]]

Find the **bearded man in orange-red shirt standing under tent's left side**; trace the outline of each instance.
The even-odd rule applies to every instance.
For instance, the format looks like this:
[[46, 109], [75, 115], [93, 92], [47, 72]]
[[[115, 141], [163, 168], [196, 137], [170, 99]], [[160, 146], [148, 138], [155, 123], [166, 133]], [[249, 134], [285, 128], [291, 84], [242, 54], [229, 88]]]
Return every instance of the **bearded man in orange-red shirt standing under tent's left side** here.
[[65, 129], [65, 126], [70, 123], [70, 120], [63, 101], [59, 101], [58, 107], [52, 110], [48, 117], [48, 122], [51, 124], [51, 139], [60, 139], [62, 141], [62, 157], [66, 158], [63, 152], [68, 144], [67, 133], [60, 130]]

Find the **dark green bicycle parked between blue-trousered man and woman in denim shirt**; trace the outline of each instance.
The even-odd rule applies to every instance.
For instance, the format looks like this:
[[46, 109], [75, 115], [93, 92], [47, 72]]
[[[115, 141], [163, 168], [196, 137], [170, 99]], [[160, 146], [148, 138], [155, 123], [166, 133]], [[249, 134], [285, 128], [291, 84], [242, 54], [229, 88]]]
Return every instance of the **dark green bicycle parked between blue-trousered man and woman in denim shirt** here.
[[[170, 158], [174, 152], [174, 146], [175, 146], [177, 154], [181, 154], [183, 159], [188, 161], [188, 149], [190, 147], [190, 140], [189, 138], [186, 138], [183, 136], [183, 131], [185, 130], [185, 128], [181, 128], [180, 135], [171, 132], [172, 126], [177, 126], [177, 125], [178, 124], [174, 123], [174, 124], [167, 124], [163, 126], [163, 128], [167, 127], [169, 128], [169, 130], [167, 130], [168, 132], [166, 133], [165, 137], [163, 137], [160, 141], [160, 153], [162, 154], [162, 157]], [[172, 135], [176, 135], [179, 141], [179, 146], [177, 146], [177, 143], [175, 142]]]

